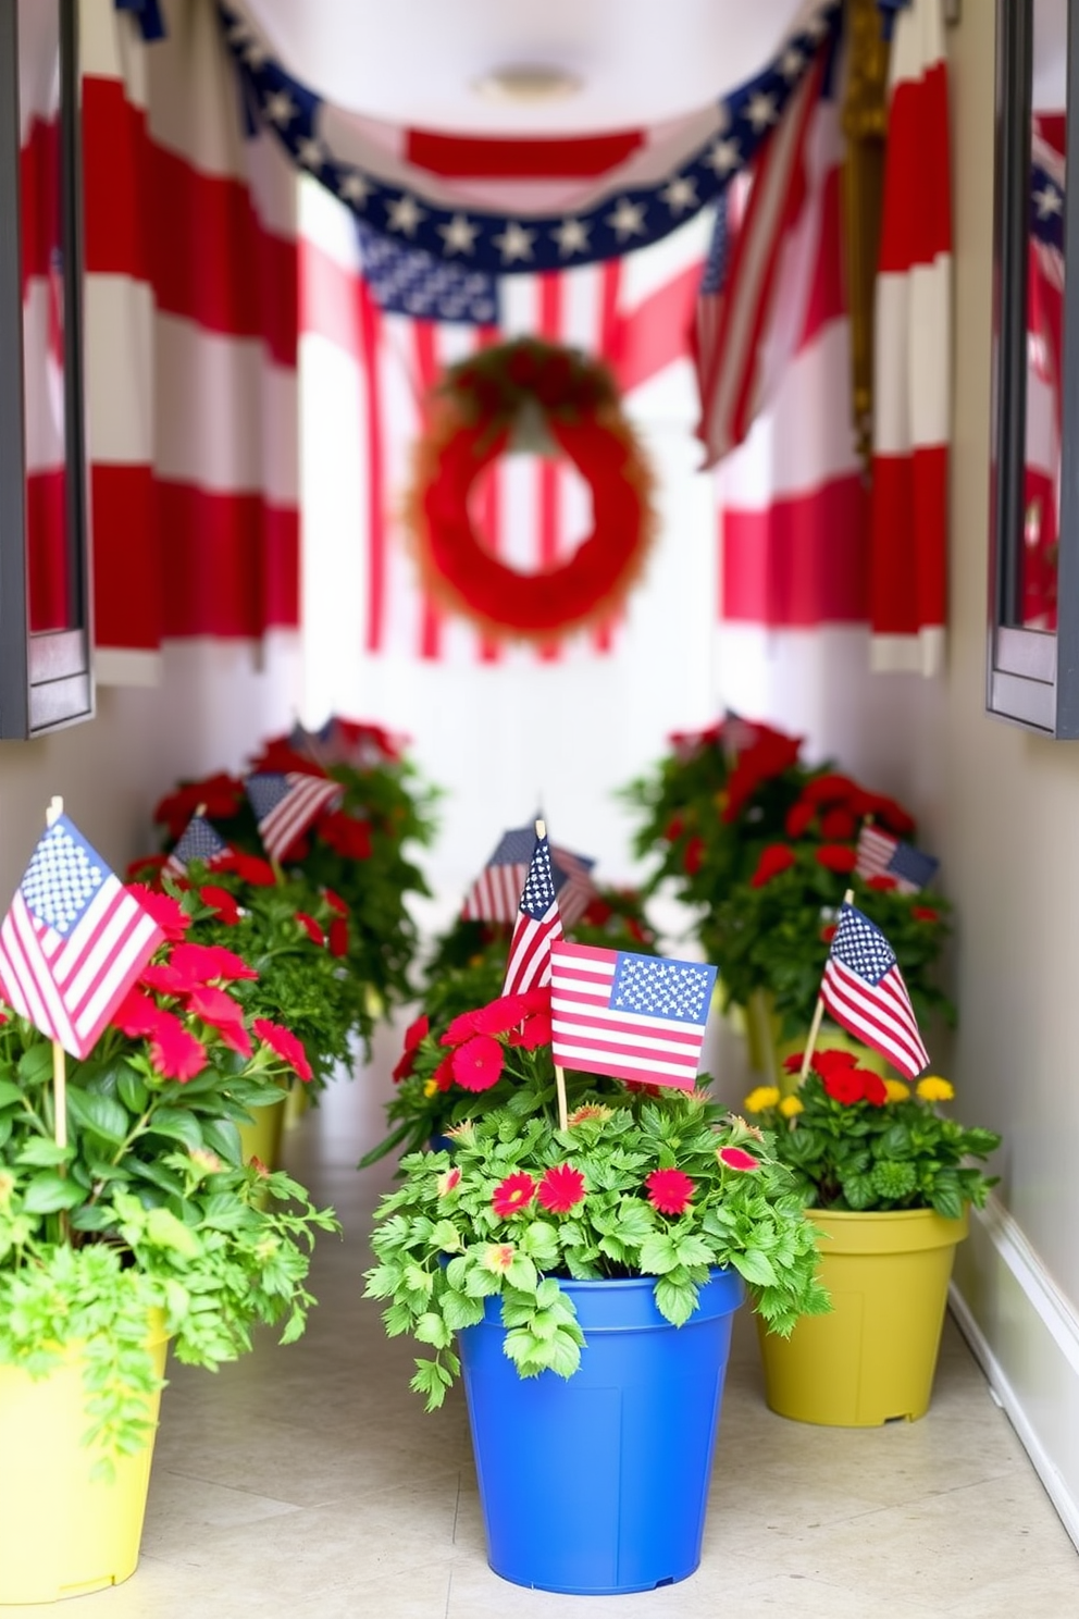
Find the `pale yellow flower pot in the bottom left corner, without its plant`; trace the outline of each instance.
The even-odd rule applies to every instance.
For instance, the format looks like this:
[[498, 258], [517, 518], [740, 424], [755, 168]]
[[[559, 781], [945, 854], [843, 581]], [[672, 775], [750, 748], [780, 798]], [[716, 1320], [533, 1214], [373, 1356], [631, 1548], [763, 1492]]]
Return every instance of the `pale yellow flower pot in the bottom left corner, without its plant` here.
[[[167, 1339], [150, 1337], [165, 1371]], [[157, 1423], [160, 1394], [146, 1402]], [[0, 1366], [0, 1604], [55, 1603], [120, 1585], [139, 1561], [154, 1443], [115, 1459], [112, 1483], [92, 1480], [78, 1345], [55, 1370], [31, 1378]]]

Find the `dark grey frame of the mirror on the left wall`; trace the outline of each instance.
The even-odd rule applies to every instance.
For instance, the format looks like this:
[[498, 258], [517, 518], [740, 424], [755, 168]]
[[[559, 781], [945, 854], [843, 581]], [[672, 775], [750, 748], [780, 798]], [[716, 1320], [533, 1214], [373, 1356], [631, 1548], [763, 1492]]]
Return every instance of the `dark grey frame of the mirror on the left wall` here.
[[68, 568], [76, 628], [32, 633], [26, 562], [26, 439], [19, 253], [18, 0], [0, 0], [0, 738], [94, 714], [83, 368], [78, 0], [60, 11]]

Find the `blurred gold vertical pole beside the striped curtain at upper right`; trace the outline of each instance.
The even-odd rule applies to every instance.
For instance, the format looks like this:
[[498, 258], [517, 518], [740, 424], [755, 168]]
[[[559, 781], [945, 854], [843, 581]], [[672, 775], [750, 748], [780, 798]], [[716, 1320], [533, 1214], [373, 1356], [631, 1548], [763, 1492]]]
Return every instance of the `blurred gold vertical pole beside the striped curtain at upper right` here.
[[888, 40], [877, 0], [846, 0], [843, 222], [851, 304], [851, 406], [865, 468], [874, 450], [874, 303], [888, 133]]

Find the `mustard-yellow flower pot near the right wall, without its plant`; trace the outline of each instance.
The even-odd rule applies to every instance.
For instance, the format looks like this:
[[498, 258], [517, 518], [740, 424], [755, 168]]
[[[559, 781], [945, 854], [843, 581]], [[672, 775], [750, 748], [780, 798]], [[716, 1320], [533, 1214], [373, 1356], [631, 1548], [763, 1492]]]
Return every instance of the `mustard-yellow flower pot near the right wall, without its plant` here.
[[802, 1316], [789, 1339], [757, 1318], [765, 1399], [780, 1417], [827, 1428], [877, 1428], [929, 1410], [956, 1243], [967, 1214], [807, 1209], [820, 1237], [827, 1316]]

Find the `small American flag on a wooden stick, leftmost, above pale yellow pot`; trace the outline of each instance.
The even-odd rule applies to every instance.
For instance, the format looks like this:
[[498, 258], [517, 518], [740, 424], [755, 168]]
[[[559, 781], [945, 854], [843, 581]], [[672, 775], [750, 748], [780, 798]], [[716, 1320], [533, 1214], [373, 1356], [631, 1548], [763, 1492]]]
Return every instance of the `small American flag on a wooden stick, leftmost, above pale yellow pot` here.
[[84, 1057], [163, 939], [150, 913], [58, 816], [0, 923], [0, 996]]

